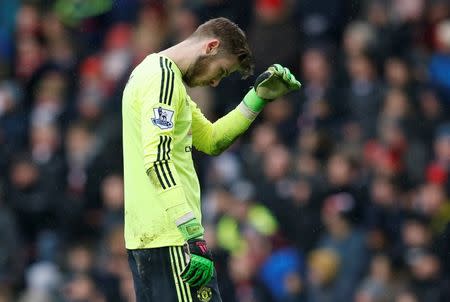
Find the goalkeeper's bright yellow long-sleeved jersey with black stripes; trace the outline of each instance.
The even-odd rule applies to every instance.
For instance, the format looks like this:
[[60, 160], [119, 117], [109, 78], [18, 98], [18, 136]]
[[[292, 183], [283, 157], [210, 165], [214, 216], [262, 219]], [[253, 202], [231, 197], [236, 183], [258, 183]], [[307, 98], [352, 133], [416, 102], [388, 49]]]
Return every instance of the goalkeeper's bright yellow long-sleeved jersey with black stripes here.
[[200, 186], [192, 146], [217, 155], [256, 118], [241, 102], [211, 123], [186, 93], [173, 61], [147, 56], [131, 73], [122, 99], [127, 249], [184, 243], [176, 219], [192, 212], [201, 221]]

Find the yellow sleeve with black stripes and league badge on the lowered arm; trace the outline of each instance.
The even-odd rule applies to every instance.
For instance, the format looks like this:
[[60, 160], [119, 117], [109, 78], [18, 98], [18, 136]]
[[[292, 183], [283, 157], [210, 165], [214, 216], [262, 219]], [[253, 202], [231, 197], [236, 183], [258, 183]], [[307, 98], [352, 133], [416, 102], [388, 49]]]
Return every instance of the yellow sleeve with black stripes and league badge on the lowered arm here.
[[172, 63], [160, 58], [160, 64], [160, 72], [141, 85], [145, 88], [138, 96], [144, 169], [171, 220], [177, 222], [191, 212], [171, 157], [181, 100]]

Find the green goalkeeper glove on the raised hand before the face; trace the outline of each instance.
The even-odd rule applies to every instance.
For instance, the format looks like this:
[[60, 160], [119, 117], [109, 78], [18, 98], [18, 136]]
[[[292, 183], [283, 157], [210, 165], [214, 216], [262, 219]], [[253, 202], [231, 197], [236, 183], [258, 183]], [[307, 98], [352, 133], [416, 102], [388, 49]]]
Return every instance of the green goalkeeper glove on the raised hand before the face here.
[[260, 112], [274, 99], [299, 89], [300, 82], [286, 67], [271, 65], [258, 76], [255, 85], [244, 97], [244, 103], [254, 112]]

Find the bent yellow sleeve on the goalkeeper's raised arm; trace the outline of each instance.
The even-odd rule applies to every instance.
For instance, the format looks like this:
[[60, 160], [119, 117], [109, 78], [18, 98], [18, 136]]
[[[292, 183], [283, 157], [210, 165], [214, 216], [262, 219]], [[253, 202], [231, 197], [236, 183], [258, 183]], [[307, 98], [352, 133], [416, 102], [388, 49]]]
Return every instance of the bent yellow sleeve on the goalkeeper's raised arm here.
[[257, 113], [241, 102], [235, 109], [211, 123], [189, 100], [192, 108], [192, 143], [194, 147], [209, 155], [225, 151], [255, 120]]

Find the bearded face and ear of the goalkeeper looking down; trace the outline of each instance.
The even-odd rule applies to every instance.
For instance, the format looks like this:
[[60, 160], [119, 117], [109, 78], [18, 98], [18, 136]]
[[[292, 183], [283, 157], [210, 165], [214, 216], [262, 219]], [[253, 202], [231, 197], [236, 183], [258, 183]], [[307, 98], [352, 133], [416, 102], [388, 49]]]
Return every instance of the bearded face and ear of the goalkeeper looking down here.
[[189, 87], [211, 86], [216, 87], [220, 81], [236, 71], [239, 67], [235, 56], [219, 50], [220, 41], [209, 41], [203, 53], [191, 63], [183, 75], [183, 81]]

